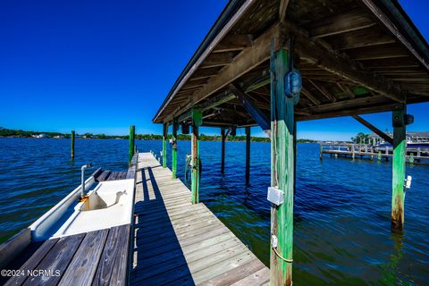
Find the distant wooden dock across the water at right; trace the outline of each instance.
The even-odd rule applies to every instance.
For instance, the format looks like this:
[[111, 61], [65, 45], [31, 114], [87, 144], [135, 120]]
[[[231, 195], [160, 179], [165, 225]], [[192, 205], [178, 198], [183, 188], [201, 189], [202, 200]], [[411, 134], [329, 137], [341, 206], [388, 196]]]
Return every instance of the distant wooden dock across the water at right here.
[[[355, 159], [370, 160], [386, 160], [388, 161], [393, 157], [393, 148], [389, 146], [377, 147], [371, 144], [349, 144], [349, 143], [321, 143], [320, 144], [320, 158], [324, 154], [330, 156], [342, 156]], [[429, 164], [429, 148], [425, 147], [407, 147], [406, 151], [407, 164]]]

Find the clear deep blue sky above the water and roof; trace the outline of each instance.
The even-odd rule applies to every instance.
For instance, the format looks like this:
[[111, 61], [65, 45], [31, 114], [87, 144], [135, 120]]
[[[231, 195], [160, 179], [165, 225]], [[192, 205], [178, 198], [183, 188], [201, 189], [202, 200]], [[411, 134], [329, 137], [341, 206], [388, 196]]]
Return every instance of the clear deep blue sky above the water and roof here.
[[[135, 124], [139, 133], [160, 133], [151, 119], [226, 3], [1, 1], [0, 126], [120, 135]], [[400, 3], [427, 40], [429, 1]], [[429, 130], [428, 107], [408, 105], [416, 118], [408, 130]], [[391, 129], [391, 114], [364, 117]], [[368, 132], [349, 117], [298, 123], [299, 138], [359, 131]]]

